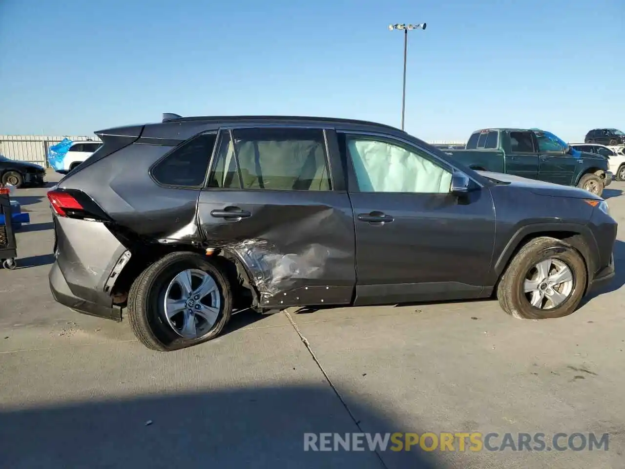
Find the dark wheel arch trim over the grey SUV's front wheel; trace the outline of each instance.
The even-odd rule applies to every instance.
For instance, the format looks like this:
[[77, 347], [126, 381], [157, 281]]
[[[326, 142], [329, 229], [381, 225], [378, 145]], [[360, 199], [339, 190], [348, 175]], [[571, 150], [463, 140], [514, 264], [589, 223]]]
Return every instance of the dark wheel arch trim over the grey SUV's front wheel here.
[[599, 260], [599, 246], [597, 246], [597, 240], [594, 238], [594, 235], [592, 235], [591, 229], [579, 223], [532, 223], [517, 229], [516, 233], [512, 235], [507, 245], [502, 250], [499, 258], [497, 258], [494, 266], [494, 271], [497, 276], [501, 276], [504, 272], [512, 255], [517, 251], [517, 248], [519, 248], [524, 238], [529, 235], [554, 232], [576, 233], [584, 238], [585, 243], [572, 243], [572, 246], [576, 248], [584, 258], [588, 271], [588, 282], [591, 283]]

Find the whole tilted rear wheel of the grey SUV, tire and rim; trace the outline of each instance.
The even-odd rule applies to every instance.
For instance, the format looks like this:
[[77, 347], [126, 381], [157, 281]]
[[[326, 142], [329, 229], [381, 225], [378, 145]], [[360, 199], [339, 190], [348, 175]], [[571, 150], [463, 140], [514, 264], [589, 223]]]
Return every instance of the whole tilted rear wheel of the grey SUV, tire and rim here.
[[230, 319], [232, 293], [204, 256], [170, 253], [139, 275], [128, 293], [128, 319], [146, 347], [171, 351], [215, 338]]

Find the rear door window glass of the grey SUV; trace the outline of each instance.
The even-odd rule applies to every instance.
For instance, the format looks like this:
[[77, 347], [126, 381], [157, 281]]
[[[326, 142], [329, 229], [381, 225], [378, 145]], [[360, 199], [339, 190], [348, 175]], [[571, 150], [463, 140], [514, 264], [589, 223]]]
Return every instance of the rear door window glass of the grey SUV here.
[[222, 131], [211, 188], [329, 191], [321, 129], [251, 128]]

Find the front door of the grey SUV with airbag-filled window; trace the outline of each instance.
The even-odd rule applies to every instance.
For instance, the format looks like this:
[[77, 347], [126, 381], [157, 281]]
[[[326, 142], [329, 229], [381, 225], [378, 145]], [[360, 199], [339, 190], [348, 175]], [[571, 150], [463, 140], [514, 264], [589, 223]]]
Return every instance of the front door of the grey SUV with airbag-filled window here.
[[495, 221], [488, 189], [459, 199], [451, 167], [381, 134], [338, 133], [349, 155], [356, 224], [356, 304], [479, 296]]

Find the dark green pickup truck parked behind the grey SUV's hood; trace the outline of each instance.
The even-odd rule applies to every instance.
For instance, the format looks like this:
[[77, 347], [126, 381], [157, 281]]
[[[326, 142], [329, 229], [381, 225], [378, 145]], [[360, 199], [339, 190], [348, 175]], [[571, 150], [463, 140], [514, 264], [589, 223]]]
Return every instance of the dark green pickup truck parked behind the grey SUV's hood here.
[[441, 151], [471, 169], [577, 186], [598, 196], [613, 177], [606, 158], [539, 129], [478, 130], [464, 149]]

